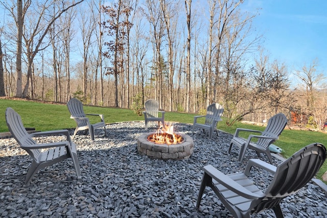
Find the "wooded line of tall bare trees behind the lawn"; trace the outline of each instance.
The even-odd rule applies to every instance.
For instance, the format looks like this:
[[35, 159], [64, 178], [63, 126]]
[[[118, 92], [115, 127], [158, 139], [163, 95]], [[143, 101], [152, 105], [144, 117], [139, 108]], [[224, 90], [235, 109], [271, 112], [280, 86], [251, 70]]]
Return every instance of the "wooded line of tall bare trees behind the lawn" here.
[[244, 10], [244, 2], [1, 2], [0, 96], [78, 97], [134, 110], [155, 98], [166, 111], [187, 113], [218, 102], [228, 125], [292, 112], [296, 122], [323, 128], [324, 77], [316, 62], [288, 69], [269, 60], [252, 26], [258, 11]]

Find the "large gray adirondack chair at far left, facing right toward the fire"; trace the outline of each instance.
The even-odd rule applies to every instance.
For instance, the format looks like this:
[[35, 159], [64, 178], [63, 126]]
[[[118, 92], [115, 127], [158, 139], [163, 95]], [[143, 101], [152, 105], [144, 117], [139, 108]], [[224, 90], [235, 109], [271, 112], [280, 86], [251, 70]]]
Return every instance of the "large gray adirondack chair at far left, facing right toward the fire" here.
[[[77, 174], [77, 179], [81, 179], [80, 165], [76, 145], [72, 142], [68, 130], [43, 131], [29, 134], [22, 124], [20, 116], [11, 108], [6, 110], [6, 122], [10, 133], [16, 139], [20, 147], [27, 151], [33, 158], [30, 169], [27, 173], [25, 184], [30, 183], [32, 177], [40, 169], [51, 166], [61, 160], [71, 157]], [[66, 141], [52, 143], [36, 143], [33, 137], [65, 135]]]

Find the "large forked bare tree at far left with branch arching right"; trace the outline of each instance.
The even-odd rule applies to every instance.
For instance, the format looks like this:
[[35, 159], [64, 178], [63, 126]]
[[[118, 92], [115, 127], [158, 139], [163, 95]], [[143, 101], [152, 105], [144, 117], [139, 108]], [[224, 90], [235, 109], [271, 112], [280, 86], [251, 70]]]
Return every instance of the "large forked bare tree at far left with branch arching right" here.
[[[50, 30], [53, 22], [57, 20], [65, 11], [69, 8], [72, 8], [84, 0], [80, 0], [78, 2], [73, 1], [62, 2], [60, 10], [55, 14], [51, 14], [50, 7], [54, 4], [57, 4], [57, 1], [45, 2], [42, 4], [35, 4], [35, 7], [31, 8], [32, 1], [25, 0], [24, 7], [23, 1], [17, 0], [17, 4], [14, 2], [4, 4], [5, 8], [11, 13], [12, 17], [15, 20], [17, 26], [17, 52], [16, 52], [16, 96], [17, 97], [27, 97], [28, 91], [31, 83], [33, 83], [32, 79], [32, 65], [33, 60], [37, 53], [44, 49], [44, 45], [42, 42]], [[16, 13], [16, 11], [17, 13]], [[49, 14], [50, 13], [50, 14]], [[25, 23], [26, 16], [34, 16], [33, 21], [29, 23]], [[51, 17], [49, 20], [48, 18]], [[35, 19], [36, 18], [36, 19]], [[27, 26], [29, 25], [29, 26]], [[25, 28], [24, 28], [25, 26]], [[28, 32], [24, 32], [24, 30], [28, 30]], [[26, 57], [27, 57], [27, 82], [22, 91], [22, 78], [21, 78], [21, 53], [22, 53], [22, 38], [24, 39], [26, 46]]]

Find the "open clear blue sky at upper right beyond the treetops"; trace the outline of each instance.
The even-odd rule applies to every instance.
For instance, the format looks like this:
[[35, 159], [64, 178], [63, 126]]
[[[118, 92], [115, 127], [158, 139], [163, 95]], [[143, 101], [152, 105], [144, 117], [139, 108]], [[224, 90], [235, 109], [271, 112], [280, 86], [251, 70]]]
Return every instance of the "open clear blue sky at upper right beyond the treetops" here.
[[244, 6], [261, 8], [253, 24], [264, 36], [270, 61], [292, 71], [316, 60], [317, 72], [327, 75], [327, 1], [247, 0]]

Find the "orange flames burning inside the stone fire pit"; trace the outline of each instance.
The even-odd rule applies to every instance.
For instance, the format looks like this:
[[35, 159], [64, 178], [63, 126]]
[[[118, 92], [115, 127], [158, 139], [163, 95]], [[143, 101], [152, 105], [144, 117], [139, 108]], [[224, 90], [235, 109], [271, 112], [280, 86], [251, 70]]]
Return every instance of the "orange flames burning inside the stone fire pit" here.
[[174, 125], [160, 126], [157, 131], [149, 135], [148, 140], [157, 144], [178, 144], [183, 141], [181, 135], [174, 132]]

